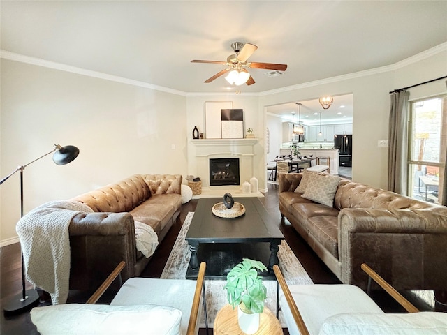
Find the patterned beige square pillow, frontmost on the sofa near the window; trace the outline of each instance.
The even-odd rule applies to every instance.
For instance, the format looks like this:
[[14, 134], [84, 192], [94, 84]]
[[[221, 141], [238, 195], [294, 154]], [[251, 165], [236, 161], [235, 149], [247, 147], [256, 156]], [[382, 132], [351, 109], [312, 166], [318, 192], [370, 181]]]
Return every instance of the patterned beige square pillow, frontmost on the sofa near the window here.
[[342, 178], [333, 174], [308, 173], [306, 191], [302, 195], [302, 198], [333, 207], [335, 192]]

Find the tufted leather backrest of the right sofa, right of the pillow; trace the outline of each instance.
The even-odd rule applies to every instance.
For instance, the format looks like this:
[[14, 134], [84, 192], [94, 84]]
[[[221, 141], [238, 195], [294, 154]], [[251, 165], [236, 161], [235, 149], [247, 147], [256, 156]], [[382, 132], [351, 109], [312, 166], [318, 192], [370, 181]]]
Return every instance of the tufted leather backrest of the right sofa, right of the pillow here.
[[335, 193], [334, 207], [341, 210], [344, 208], [424, 209], [437, 206], [381, 188], [342, 179]]

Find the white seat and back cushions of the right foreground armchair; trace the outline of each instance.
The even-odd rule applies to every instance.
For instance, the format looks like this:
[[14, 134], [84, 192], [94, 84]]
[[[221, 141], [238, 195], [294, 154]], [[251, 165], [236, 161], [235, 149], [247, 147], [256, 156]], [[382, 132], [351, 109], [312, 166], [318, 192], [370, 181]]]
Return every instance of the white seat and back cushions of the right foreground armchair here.
[[[441, 335], [447, 313], [388, 314], [354, 285], [288, 285], [311, 335]], [[281, 310], [291, 335], [300, 335], [284, 294]]]

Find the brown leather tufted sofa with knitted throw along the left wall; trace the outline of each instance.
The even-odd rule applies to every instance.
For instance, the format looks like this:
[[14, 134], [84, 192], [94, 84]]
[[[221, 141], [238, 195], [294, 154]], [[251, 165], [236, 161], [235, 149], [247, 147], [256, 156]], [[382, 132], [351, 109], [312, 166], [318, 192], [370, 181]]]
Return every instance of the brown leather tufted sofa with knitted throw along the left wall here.
[[96, 288], [124, 260], [122, 279], [138, 276], [150, 260], [135, 247], [134, 221], [150, 225], [159, 243], [182, 206], [182, 175], [135, 174], [71, 200], [95, 213], [78, 214], [70, 225], [70, 288]]

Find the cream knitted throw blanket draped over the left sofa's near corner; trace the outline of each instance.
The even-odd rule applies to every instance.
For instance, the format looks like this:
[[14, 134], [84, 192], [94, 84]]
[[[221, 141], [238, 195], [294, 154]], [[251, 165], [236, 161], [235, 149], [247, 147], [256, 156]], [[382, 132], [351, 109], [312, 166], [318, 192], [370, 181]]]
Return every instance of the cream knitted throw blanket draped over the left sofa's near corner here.
[[17, 223], [27, 279], [49, 292], [53, 304], [65, 304], [68, 298], [68, 225], [73, 216], [82, 212], [93, 210], [82, 202], [47, 202], [31, 210]]

